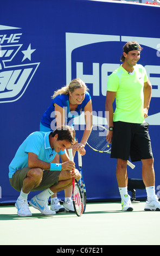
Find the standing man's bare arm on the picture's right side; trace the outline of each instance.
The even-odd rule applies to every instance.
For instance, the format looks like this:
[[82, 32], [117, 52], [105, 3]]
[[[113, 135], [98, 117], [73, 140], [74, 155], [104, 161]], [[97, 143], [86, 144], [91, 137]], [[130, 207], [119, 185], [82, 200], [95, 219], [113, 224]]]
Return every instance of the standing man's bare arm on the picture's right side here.
[[150, 101], [151, 101], [151, 95], [152, 95], [152, 85], [149, 79], [144, 83], [143, 93], [144, 93], [144, 118], [146, 118], [148, 117], [148, 109], [150, 107]]

